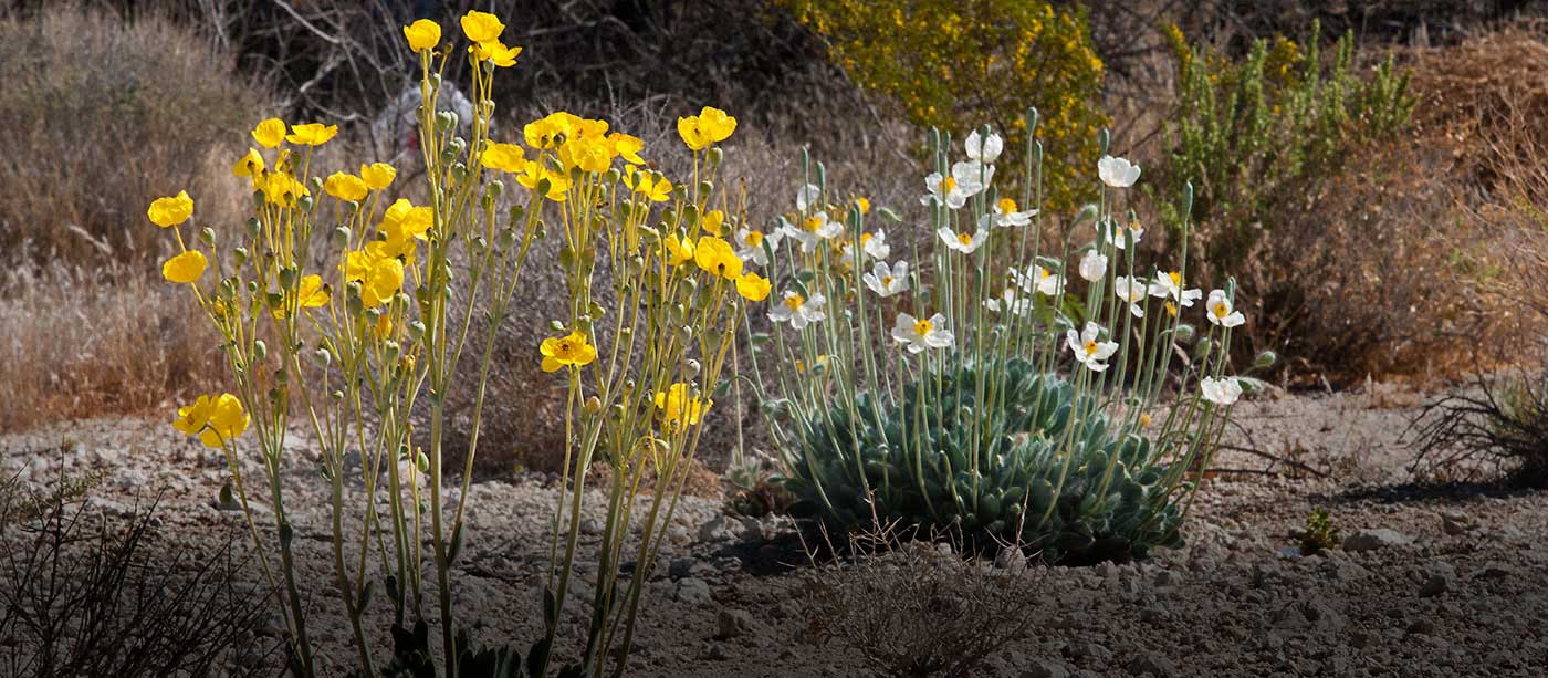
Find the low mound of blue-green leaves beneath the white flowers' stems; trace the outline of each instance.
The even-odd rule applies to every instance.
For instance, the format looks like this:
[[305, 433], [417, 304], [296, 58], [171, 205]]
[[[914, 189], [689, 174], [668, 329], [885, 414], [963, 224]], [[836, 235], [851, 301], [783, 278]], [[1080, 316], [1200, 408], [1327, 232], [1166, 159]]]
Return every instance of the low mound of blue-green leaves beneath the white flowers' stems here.
[[1019, 543], [1062, 563], [1181, 545], [1180, 494], [1149, 438], [1124, 433], [1090, 393], [1020, 358], [960, 365], [926, 372], [878, 416], [861, 393], [854, 410], [867, 415], [833, 407], [805, 421], [786, 478], [800, 497], [791, 512], [844, 531], [960, 531], [977, 548]]

